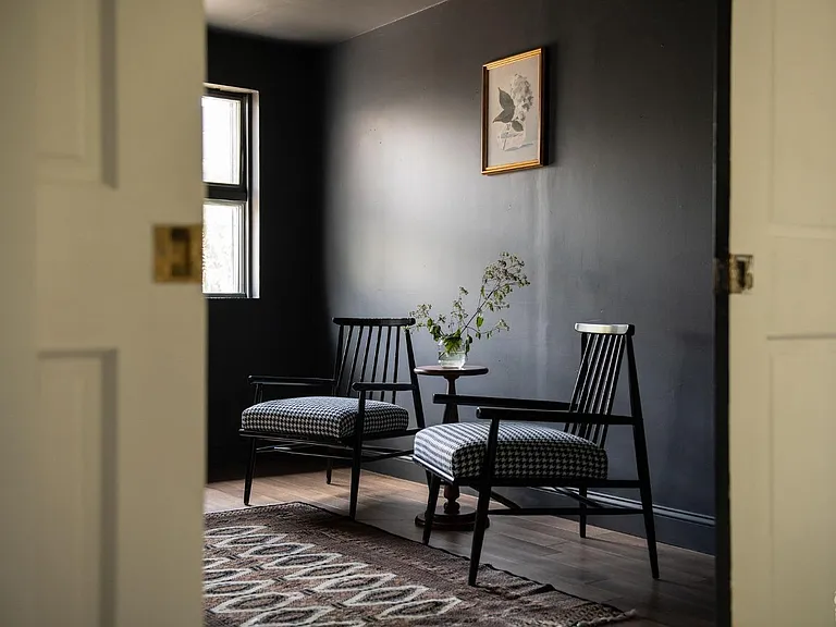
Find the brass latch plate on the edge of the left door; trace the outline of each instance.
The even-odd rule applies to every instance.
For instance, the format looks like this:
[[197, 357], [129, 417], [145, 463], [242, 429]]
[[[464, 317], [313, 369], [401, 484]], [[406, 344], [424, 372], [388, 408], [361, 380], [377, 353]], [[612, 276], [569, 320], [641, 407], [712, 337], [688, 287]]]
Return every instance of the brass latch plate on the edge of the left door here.
[[157, 283], [202, 283], [202, 224], [153, 228], [153, 280]]

